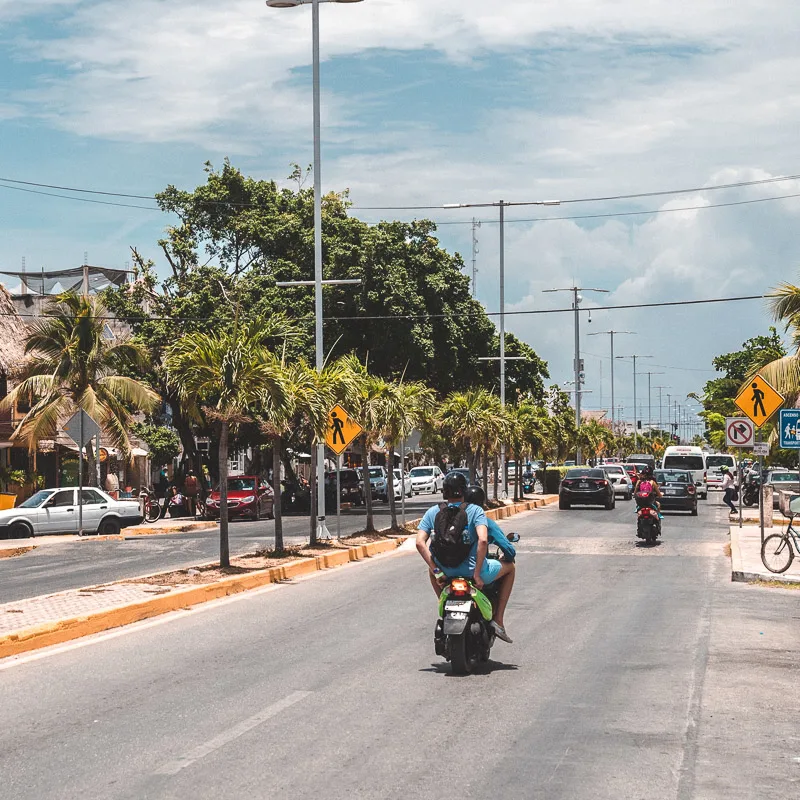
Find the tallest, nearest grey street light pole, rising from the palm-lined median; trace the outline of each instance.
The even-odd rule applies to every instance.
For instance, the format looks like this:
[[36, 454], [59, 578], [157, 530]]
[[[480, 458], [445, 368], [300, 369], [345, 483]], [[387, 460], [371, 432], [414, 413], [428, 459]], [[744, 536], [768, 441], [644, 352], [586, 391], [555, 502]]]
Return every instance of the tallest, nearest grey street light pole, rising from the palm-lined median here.
[[[362, 0], [266, 0], [269, 8], [295, 8], [310, 5], [314, 87], [314, 318], [316, 368], [324, 364], [322, 340], [322, 145], [319, 81], [319, 6], [320, 3], [360, 3]], [[316, 538], [327, 538], [325, 526], [325, 444], [317, 445], [317, 529]]]

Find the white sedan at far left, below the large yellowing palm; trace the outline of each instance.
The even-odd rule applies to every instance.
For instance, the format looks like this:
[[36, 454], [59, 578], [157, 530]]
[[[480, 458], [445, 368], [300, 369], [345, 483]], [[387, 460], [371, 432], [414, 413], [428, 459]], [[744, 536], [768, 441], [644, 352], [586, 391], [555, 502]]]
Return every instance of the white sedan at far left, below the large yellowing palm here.
[[[94, 487], [83, 490], [83, 531], [108, 536], [138, 525], [138, 500], [114, 500]], [[78, 490], [42, 489], [16, 508], [0, 511], [0, 538], [27, 539], [52, 533], [78, 533]]]

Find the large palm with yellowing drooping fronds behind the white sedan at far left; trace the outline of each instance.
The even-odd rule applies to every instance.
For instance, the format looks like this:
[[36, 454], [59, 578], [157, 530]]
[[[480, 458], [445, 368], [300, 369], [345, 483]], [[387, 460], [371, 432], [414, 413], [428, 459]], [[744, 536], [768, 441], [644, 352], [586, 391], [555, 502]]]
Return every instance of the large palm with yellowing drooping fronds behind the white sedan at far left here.
[[[0, 403], [2, 409], [21, 402], [30, 405], [14, 439], [34, 449], [40, 439], [55, 436], [69, 413], [81, 408], [99, 422], [114, 447], [126, 457], [130, 454], [133, 412], [152, 411], [159, 397], [135, 378], [119, 374], [140, 370], [147, 353], [130, 340], [107, 339], [107, 316], [98, 297], [65, 292], [53, 299], [46, 317], [31, 324], [25, 340], [30, 358], [22, 365], [20, 382]], [[91, 481], [88, 447], [87, 458]]]

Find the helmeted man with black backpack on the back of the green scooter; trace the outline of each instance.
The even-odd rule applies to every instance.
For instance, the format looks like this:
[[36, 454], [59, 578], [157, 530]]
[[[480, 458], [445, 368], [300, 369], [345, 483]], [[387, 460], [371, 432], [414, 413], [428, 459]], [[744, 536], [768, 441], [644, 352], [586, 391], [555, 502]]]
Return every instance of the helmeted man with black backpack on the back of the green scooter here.
[[467, 480], [459, 472], [451, 472], [445, 476], [442, 496], [444, 504], [432, 506], [425, 512], [417, 531], [417, 551], [428, 565], [430, 581], [433, 591], [439, 597], [447, 578], [467, 578], [472, 580], [478, 589], [483, 589], [486, 584], [501, 581], [498, 584], [496, 607], [493, 609], [492, 628], [498, 639], [511, 644], [512, 639], [506, 633], [503, 625], [503, 615], [514, 586], [515, 567], [513, 562], [498, 561], [487, 558], [489, 547], [488, 520], [483, 508], [474, 503], [467, 504], [464, 508], [467, 518], [467, 527], [462, 534], [465, 543], [469, 543], [467, 557], [457, 566], [448, 567], [436, 561], [431, 554], [431, 534], [434, 532], [437, 514], [443, 512], [447, 506], [460, 508], [465, 504]]

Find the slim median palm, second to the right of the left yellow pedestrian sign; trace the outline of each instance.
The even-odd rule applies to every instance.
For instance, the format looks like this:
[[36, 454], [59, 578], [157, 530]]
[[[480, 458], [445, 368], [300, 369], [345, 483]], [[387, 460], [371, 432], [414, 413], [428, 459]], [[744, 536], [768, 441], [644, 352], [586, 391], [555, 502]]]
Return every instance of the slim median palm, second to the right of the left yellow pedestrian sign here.
[[[433, 411], [434, 394], [422, 383], [384, 382], [378, 400], [380, 431], [386, 443], [387, 495], [392, 528], [397, 528], [397, 504], [394, 499], [394, 449], [401, 439]], [[405, 469], [401, 465], [401, 475]], [[402, 480], [402, 479], [401, 479]], [[402, 493], [403, 490], [401, 490]]]

